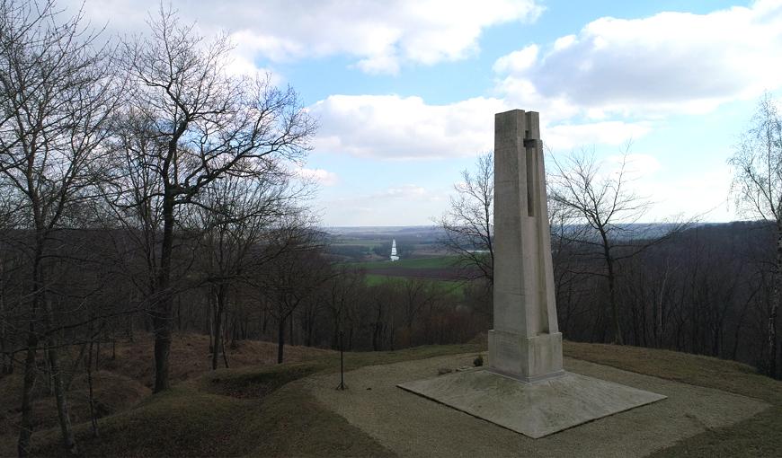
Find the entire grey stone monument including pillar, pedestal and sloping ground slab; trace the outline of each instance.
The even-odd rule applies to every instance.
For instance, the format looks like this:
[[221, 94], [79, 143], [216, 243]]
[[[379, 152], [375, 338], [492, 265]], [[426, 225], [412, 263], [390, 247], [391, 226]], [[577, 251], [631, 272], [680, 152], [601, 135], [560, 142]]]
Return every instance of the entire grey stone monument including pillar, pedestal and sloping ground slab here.
[[538, 113], [494, 117], [494, 326], [489, 365], [401, 383], [538, 438], [665, 396], [564, 372]]

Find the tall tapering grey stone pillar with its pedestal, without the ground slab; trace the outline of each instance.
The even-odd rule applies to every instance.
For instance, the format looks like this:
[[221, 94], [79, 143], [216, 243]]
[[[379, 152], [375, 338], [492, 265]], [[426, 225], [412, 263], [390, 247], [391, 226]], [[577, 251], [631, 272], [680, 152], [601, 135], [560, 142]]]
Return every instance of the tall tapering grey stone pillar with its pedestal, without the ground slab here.
[[494, 329], [489, 367], [525, 382], [564, 374], [538, 113], [494, 116]]

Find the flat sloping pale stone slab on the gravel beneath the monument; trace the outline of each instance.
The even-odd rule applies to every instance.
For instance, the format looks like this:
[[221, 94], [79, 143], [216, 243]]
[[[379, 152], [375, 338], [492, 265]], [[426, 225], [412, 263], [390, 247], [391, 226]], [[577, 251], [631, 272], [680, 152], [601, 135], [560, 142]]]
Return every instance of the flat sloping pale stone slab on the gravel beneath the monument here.
[[473, 369], [397, 386], [535, 439], [665, 399], [573, 373], [525, 383]]

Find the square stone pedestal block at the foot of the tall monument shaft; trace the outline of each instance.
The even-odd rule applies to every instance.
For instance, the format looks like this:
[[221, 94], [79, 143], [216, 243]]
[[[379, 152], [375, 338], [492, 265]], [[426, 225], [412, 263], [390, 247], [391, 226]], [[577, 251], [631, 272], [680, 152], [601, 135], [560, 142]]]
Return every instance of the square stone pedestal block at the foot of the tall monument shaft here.
[[489, 368], [523, 382], [537, 382], [564, 374], [562, 334], [523, 337], [489, 330]]

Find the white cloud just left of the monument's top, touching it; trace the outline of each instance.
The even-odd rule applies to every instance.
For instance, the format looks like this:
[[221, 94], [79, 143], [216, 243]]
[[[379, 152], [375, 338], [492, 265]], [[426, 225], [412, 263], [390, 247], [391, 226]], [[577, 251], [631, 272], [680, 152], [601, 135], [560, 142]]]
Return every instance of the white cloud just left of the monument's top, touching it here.
[[498, 99], [428, 105], [420, 97], [332, 95], [310, 107], [315, 149], [384, 159], [473, 156], [493, 148]]

